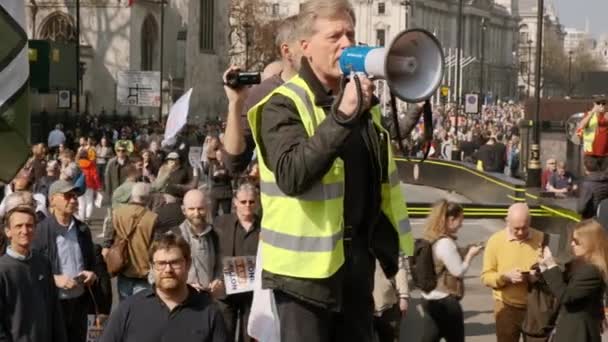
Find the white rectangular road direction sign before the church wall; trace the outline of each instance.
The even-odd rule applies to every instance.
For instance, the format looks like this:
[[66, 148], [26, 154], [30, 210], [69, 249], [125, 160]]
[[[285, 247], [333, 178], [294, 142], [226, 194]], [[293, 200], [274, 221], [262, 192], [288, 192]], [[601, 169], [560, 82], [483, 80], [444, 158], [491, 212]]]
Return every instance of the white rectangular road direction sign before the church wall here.
[[116, 97], [124, 106], [159, 107], [159, 71], [119, 71], [116, 75]]

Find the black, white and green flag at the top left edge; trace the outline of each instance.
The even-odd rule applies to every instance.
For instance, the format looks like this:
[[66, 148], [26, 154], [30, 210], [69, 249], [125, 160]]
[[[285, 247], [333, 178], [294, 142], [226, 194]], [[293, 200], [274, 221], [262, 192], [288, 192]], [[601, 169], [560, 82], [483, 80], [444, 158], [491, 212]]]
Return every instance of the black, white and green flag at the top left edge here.
[[30, 152], [25, 1], [0, 0], [0, 181], [8, 183]]

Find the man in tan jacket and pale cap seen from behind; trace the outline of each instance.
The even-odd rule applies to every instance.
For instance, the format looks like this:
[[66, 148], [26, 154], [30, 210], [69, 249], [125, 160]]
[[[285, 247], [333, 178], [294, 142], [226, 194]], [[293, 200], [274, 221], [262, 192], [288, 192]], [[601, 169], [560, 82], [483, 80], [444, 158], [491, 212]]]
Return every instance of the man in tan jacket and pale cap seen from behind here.
[[[113, 210], [112, 225], [115, 239], [129, 241], [127, 265], [118, 275], [119, 298], [123, 299], [150, 288], [148, 272], [150, 263], [148, 250], [154, 237], [154, 226], [158, 215], [146, 208], [150, 196], [150, 185], [135, 183], [128, 204]], [[107, 253], [104, 251], [104, 255]]]

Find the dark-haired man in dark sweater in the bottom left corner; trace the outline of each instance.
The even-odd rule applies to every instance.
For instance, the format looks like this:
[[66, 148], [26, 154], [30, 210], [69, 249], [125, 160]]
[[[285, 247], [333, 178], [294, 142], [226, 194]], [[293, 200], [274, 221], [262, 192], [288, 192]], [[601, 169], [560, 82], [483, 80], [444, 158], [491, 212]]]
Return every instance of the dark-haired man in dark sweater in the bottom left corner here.
[[31, 249], [33, 207], [10, 208], [4, 220], [10, 245], [0, 257], [0, 341], [67, 341], [51, 265]]

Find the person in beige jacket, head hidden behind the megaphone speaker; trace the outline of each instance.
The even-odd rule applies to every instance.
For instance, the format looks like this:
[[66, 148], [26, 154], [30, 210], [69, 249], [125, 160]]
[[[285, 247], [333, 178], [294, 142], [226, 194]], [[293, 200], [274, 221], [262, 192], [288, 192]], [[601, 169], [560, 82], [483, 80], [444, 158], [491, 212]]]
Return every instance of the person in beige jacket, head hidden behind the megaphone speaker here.
[[399, 271], [387, 279], [376, 260], [374, 276], [374, 328], [379, 342], [398, 342], [401, 317], [405, 315], [410, 297], [406, 259], [399, 259]]

